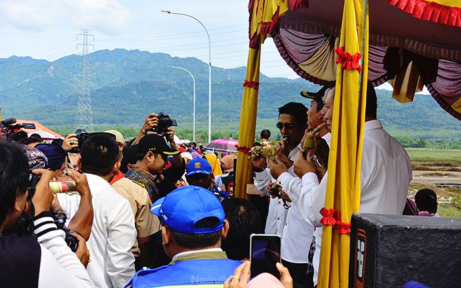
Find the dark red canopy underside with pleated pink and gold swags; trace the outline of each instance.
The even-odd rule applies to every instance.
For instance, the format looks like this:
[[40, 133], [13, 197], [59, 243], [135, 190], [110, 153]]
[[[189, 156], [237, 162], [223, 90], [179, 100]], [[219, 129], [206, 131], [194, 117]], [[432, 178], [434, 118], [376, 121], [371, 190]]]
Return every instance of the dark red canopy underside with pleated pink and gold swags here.
[[[461, 26], [418, 19], [387, 0], [369, 2], [368, 79], [383, 84], [413, 63], [440, 107], [461, 120]], [[272, 24], [281, 56], [302, 78], [334, 79], [342, 10], [343, 1], [310, 0]]]

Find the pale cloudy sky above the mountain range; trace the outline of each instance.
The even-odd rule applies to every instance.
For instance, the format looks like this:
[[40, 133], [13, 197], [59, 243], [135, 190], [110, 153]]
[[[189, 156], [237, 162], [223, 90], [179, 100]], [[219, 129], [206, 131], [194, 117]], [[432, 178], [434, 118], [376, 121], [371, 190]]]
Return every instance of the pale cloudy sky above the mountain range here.
[[[94, 34], [96, 50], [140, 49], [208, 62], [208, 41], [200, 23], [161, 10], [202, 21], [211, 36], [213, 66], [246, 65], [248, 0], [0, 0], [0, 58], [56, 60], [76, 54], [76, 45], [81, 43], [76, 35], [87, 28]], [[261, 72], [298, 77], [270, 38], [262, 48]]]

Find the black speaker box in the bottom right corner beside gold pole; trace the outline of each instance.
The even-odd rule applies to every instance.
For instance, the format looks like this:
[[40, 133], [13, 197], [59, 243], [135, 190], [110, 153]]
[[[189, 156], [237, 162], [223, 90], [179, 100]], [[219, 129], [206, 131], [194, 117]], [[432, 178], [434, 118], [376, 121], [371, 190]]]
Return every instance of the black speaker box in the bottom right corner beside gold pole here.
[[349, 287], [461, 287], [461, 219], [352, 215]]

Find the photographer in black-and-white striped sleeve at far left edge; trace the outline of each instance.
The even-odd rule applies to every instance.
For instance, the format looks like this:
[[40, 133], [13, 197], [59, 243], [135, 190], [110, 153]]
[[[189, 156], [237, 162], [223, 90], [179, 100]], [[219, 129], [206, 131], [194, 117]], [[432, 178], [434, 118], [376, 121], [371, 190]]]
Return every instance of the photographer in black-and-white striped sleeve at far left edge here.
[[[94, 287], [85, 267], [67, 247], [64, 232], [58, 230], [48, 212], [53, 197], [49, 182], [56, 173], [33, 172], [41, 176], [34, 197], [29, 194], [28, 159], [23, 150], [16, 144], [0, 142], [2, 286]], [[37, 238], [28, 235], [31, 228]], [[85, 242], [79, 249], [86, 249]]]

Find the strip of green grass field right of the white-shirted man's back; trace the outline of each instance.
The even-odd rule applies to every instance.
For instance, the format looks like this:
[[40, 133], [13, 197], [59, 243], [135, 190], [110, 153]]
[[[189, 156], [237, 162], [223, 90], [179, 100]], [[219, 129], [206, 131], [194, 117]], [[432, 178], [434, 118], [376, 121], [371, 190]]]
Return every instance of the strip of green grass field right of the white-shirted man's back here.
[[407, 148], [411, 162], [451, 162], [461, 164], [461, 150]]

